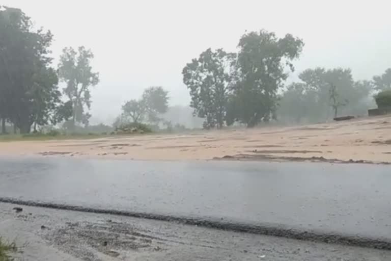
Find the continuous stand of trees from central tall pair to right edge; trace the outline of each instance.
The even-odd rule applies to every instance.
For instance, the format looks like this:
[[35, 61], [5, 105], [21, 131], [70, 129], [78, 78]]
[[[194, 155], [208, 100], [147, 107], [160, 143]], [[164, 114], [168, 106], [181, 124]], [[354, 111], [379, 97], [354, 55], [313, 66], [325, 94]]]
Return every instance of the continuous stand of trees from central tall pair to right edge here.
[[299, 74], [300, 82], [286, 86], [303, 46], [290, 34], [278, 38], [264, 30], [248, 32], [237, 53], [208, 48], [186, 64], [182, 74], [190, 107], [204, 119], [204, 128], [362, 115], [373, 105], [374, 91], [391, 89], [391, 69], [372, 81], [354, 81], [350, 69], [307, 69]]

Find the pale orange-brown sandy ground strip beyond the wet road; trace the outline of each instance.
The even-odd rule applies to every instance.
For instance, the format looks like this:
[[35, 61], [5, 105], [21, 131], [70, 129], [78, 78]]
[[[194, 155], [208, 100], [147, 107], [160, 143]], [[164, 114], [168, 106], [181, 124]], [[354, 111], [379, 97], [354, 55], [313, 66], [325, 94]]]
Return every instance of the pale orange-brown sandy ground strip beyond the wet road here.
[[391, 116], [175, 135], [2, 142], [0, 153], [134, 160], [224, 158], [391, 163]]

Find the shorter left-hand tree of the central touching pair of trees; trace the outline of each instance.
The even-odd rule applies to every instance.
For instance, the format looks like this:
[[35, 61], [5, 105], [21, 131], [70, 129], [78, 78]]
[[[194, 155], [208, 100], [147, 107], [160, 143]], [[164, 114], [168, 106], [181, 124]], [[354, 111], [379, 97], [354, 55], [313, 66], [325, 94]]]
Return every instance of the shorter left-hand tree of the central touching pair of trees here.
[[183, 68], [183, 83], [190, 90], [190, 107], [195, 115], [205, 118], [205, 128], [224, 125], [235, 59], [236, 54], [209, 48]]

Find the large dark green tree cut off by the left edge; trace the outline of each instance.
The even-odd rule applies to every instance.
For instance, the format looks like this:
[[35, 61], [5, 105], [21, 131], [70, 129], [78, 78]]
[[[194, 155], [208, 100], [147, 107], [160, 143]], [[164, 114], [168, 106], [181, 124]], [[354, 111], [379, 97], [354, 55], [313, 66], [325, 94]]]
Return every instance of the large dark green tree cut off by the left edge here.
[[[21, 10], [0, 9], [0, 116], [21, 133], [54, 119], [58, 78], [50, 67], [50, 31], [35, 30]], [[4, 123], [4, 120], [3, 120]]]

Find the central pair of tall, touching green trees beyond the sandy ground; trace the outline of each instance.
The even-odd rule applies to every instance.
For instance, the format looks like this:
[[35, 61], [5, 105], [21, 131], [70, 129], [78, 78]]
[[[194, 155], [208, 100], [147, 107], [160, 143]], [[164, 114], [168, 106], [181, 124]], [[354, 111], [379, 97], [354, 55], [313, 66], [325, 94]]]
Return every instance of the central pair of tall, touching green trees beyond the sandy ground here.
[[277, 90], [293, 71], [303, 42], [292, 35], [277, 38], [267, 31], [249, 32], [239, 40], [238, 54], [205, 50], [182, 71], [194, 114], [204, 127], [242, 122], [255, 126], [275, 117]]

